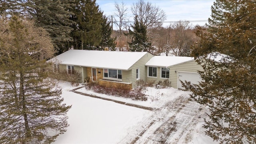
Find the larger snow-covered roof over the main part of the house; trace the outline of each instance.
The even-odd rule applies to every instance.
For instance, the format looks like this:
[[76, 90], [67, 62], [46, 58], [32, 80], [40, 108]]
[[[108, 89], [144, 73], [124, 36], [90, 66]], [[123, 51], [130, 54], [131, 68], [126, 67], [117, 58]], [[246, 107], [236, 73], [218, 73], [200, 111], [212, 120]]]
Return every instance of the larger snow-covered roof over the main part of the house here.
[[48, 61], [60, 64], [129, 70], [147, 52], [68, 50]]

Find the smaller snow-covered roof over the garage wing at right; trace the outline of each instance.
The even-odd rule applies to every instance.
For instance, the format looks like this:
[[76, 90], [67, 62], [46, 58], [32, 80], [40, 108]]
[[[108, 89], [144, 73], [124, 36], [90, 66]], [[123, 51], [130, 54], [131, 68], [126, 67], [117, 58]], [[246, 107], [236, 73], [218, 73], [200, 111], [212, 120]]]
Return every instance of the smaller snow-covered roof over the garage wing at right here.
[[168, 67], [174, 66], [176, 64], [181, 64], [184, 62], [189, 62], [194, 60], [194, 57], [185, 56], [154, 56], [147, 63], [146, 66], [159, 66]]

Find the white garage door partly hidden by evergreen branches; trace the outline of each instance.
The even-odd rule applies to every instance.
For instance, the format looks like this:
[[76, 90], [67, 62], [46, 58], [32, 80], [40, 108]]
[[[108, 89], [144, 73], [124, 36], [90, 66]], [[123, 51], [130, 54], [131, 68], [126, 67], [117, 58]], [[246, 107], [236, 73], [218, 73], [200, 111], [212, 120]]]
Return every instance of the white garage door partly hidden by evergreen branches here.
[[193, 72], [178, 72], [178, 89], [185, 89], [182, 87], [182, 84], [180, 82], [188, 81], [191, 82], [192, 84], [198, 84], [202, 79], [200, 78], [200, 75], [198, 73], [193, 73]]

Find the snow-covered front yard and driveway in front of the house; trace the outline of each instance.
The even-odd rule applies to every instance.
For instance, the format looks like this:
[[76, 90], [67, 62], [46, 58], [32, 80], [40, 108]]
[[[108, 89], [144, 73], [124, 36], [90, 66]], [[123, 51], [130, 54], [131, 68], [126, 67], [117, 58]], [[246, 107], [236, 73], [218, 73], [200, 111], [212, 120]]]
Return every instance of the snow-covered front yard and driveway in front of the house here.
[[[131, 104], [156, 108], [144, 110], [116, 102], [91, 98], [70, 92], [76, 88], [61, 82], [68, 111], [67, 132], [54, 144], [215, 144], [204, 134], [203, 119], [207, 108], [194, 102], [189, 92], [174, 88], [147, 88], [151, 98], [160, 100], [134, 101], [128, 98], [97, 94], [80, 88], [76, 91]], [[78, 86], [79, 87], [79, 86]]]

